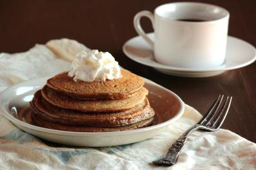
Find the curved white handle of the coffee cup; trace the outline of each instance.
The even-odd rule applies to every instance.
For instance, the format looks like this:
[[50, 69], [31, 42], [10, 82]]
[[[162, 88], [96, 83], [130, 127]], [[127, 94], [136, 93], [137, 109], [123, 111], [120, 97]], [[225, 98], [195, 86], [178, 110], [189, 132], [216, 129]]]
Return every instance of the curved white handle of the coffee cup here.
[[150, 21], [152, 22], [152, 26], [154, 29], [155, 19], [153, 17], [153, 13], [150, 11], [141, 11], [141, 12], [137, 13], [133, 18], [133, 26], [134, 26], [135, 30], [137, 31], [137, 33], [139, 35], [141, 35], [141, 37], [143, 37], [143, 39], [146, 42], [148, 42], [148, 44], [150, 44], [150, 46], [153, 49], [153, 41], [148, 37], [148, 35], [146, 35], [143, 28], [141, 27], [141, 17], [148, 17], [150, 19]]

